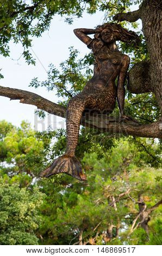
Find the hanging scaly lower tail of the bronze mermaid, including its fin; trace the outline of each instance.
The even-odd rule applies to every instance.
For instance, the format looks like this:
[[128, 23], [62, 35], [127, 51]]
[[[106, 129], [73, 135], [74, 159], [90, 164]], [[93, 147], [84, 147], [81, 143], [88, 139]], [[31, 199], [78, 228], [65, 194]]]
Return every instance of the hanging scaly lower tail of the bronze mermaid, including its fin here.
[[75, 150], [78, 144], [80, 119], [84, 111], [86, 98], [73, 97], [67, 107], [66, 112], [66, 153], [55, 159], [51, 166], [40, 173], [40, 177], [49, 177], [57, 173], [66, 173], [78, 180], [86, 180], [82, 172], [82, 166], [75, 157]]

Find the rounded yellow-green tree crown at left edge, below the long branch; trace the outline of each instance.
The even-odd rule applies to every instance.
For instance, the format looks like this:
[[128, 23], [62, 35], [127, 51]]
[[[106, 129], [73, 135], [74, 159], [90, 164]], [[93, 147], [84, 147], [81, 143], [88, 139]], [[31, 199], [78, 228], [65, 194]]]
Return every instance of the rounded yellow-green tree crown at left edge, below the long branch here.
[[[0, 141], [0, 159], [9, 164], [10, 176], [21, 172], [37, 175], [42, 164], [43, 143], [34, 138], [34, 131], [24, 121], [21, 128], [16, 129], [2, 121]], [[32, 168], [31, 168], [32, 167]]]

